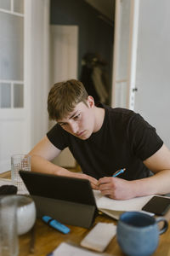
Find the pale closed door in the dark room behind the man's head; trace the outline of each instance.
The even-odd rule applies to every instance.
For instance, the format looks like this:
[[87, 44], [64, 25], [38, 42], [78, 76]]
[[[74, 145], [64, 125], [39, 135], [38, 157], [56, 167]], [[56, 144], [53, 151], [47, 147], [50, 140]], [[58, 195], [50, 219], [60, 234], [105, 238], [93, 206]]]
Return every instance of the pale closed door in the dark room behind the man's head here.
[[[51, 84], [68, 79], [77, 79], [78, 26], [51, 26]], [[54, 125], [54, 122], [50, 123]], [[54, 159], [54, 164], [75, 167], [70, 150], [65, 148]]]

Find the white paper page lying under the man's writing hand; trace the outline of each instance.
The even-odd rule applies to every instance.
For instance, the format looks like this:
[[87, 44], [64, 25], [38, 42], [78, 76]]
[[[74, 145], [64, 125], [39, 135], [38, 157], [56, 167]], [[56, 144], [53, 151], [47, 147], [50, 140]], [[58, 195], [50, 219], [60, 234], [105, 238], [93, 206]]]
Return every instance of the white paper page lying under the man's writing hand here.
[[108, 209], [113, 211], [140, 211], [153, 195], [135, 197], [128, 200], [114, 200], [104, 195], [100, 196], [98, 190], [94, 191], [96, 204], [99, 209]]

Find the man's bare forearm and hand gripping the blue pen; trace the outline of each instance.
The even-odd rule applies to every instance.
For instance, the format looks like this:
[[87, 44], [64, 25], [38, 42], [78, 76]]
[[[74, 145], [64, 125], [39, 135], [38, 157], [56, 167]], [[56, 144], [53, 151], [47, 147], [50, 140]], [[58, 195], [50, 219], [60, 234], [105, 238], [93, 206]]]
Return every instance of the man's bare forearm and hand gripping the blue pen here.
[[152, 177], [127, 181], [120, 177], [102, 177], [98, 186], [102, 195], [116, 200], [127, 200], [144, 195], [170, 193], [170, 170], [157, 172]]

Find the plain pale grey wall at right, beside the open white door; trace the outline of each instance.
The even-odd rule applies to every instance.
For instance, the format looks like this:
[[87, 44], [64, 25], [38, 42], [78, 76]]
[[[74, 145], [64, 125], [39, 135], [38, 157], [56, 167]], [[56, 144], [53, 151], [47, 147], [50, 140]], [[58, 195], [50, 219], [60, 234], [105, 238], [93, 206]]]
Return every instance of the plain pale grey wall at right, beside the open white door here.
[[141, 113], [170, 148], [170, 1], [140, 0], [135, 96]]

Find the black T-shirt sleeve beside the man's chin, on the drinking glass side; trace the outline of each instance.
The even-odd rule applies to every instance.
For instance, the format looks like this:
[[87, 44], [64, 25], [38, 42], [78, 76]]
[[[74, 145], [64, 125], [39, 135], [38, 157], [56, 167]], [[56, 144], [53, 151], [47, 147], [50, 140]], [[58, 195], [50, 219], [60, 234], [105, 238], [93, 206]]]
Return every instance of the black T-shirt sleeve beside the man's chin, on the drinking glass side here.
[[48, 140], [60, 150], [68, 147], [67, 134], [58, 124], [54, 125], [54, 127], [50, 131], [48, 131], [47, 137]]

